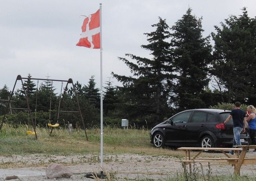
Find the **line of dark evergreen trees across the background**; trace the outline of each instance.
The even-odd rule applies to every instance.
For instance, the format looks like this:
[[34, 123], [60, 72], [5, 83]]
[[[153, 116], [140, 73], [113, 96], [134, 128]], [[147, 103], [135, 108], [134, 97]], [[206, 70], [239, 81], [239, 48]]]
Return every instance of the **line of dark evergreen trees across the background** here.
[[[132, 125], [152, 127], [182, 110], [208, 108], [220, 102], [256, 105], [256, 18], [250, 18], [245, 7], [241, 15], [228, 16], [206, 37], [203, 37], [202, 17], [193, 15], [191, 8], [171, 27], [161, 17], [152, 27], [155, 31], [145, 33], [148, 45], [141, 46], [149, 51], [151, 58], [131, 53], [118, 57], [132, 76], [112, 72], [122, 86], [113, 86], [110, 80], [105, 83], [106, 125], [120, 126], [121, 119], [128, 119]], [[48, 113], [51, 100], [53, 114], [56, 113], [59, 98], [51, 82], [36, 88], [28, 79], [24, 86], [32, 110], [37, 93], [36, 109]], [[76, 82], [74, 89], [86, 126], [99, 126], [100, 93], [94, 78], [88, 85]], [[4, 86], [0, 98], [9, 95], [9, 88]], [[16, 91], [14, 100], [15, 106], [24, 106], [24, 92]], [[1, 115], [4, 105], [0, 101]], [[75, 107], [72, 89], [68, 90], [63, 106]], [[75, 124], [78, 115], [66, 114], [61, 119]], [[43, 125], [49, 118], [41, 120], [38, 123]]]

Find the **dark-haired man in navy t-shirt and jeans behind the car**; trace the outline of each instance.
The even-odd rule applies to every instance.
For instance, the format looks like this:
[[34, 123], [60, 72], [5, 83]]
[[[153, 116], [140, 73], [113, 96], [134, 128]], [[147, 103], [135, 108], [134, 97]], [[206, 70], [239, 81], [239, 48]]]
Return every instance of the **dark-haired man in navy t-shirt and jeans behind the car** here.
[[[233, 147], [235, 145], [241, 145], [240, 134], [245, 132], [246, 118], [245, 112], [240, 109], [240, 102], [235, 102], [235, 108], [229, 114], [229, 117], [224, 121], [226, 124], [231, 118], [233, 118]], [[234, 151], [230, 151], [230, 154], [234, 154]]]

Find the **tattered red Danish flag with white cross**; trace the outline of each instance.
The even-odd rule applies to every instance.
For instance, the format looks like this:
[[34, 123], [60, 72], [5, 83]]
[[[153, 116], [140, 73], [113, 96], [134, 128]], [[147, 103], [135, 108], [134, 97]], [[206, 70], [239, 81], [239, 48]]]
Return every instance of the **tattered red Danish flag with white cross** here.
[[84, 19], [82, 33], [77, 46], [99, 49], [101, 47], [99, 10]]

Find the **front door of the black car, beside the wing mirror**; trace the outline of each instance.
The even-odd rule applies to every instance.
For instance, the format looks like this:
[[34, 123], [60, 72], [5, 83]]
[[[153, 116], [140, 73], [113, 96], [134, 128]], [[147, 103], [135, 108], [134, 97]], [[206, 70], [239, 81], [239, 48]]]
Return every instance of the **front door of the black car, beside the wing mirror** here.
[[185, 111], [171, 117], [170, 123], [166, 126], [166, 142], [181, 143], [184, 141], [186, 134], [187, 122], [190, 118], [192, 111]]

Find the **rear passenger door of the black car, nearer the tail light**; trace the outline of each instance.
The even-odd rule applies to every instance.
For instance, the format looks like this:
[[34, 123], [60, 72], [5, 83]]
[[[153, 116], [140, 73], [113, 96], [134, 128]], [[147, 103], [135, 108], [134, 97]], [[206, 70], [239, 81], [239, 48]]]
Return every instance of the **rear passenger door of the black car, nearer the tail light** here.
[[204, 111], [193, 111], [189, 122], [186, 125], [186, 134], [184, 142], [188, 144], [197, 144], [200, 133], [206, 129], [207, 113]]

